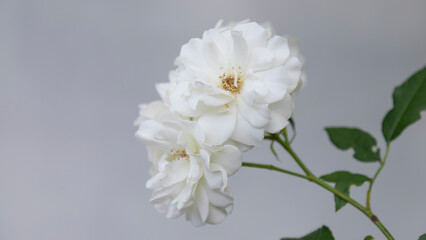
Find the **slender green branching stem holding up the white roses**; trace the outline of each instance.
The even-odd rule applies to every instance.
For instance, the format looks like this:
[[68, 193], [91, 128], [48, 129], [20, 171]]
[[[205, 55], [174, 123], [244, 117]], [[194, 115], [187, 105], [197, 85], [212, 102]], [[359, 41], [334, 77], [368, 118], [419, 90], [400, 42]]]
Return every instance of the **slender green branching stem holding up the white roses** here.
[[[389, 231], [386, 229], [386, 227], [380, 222], [380, 220], [376, 217], [376, 215], [374, 215], [374, 213], [371, 211], [370, 208], [364, 207], [363, 205], [361, 205], [360, 203], [358, 203], [357, 201], [355, 201], [354, 199], [352, 199], [348, 195], [342, 193], [341, 191], [335, 189], [334, 187], [330, 186], [329, 184], [327, 184], [323, 180], [321, 180], [318, 177], [316, 177], [306, 167], [306, 165], [302, 162], [302, 160], [299, 158], [299, 156], [297, 156], [297, 154], [293, 151], [293, 149], [291, 148], [291, 146], [290, 146], [290, 144], [289, 144], [288, 141], [284, 141], [283, 139], [281, 139], [278, 134], [270, 135], [270, 136], [267, 136], [265, 138], [269, 139], [269, 140], [272, 140], [272, 141], [277, 141], [292, 156], [292, 158], [296, 161], [296, 163], [303, 170], [303, 172], [305, 172], [306, 175], [302, 175], [302, 174], [299, 174], [299, 173], [295, 173], [295, 172], [291, 172], [291, 171], [288, 171], [288, 170], [285, 170], [285, 169], [281, 169], [281, 168], [275, 167], [273, 165], [244, 162], [243, 166], [254, 167], [254, 168], [261, 168], [261, 169], [268, 169], [268, 170], [272, 170], [272, 171], [278, 171], [278, 172], [282, 172], [282, 173], [287, 173], [289, 175], [292, 175], [292, 176], [295, 176], [295, 177], [299, 177], [299, 178], [306, 179], [308, 181], [314, 182], [315, 184], [317, 184], [320, 187], [326, 189], [327, 191], [333, 193], [334, 195], [338, 196], [339, 198], [345, 200], [346, 202], [348, 202], [349, 204], [351, 204], [352, 206], [354, 206], [355, 208], [357, 208], [358, 210], [360, 210], [362, 213], [364, 213], [364, 215], [366, 215], [380, 229], [380, 231], [386, 236], [387, 239], [389, 239], [389, 240], [394, 240], [395, 239], [389, 233]], [[386, 158], [387, 158], [388, 153], [389, 153], [389, 145], [387, 147], [384, 160], [381, 163], [380, 168], [377, 170], [375, 176], [373, 177], [371, 185], [372, 185], [372, 183], [374, 183], [374, 180], [377, 178], [377, 176], [379, 175], [380, 171], [382, 170], [382, 168], [384, 166], [384, 163], [386, 162]], [[371, 185], [370, 185], [368, 196], [370, 195]]]

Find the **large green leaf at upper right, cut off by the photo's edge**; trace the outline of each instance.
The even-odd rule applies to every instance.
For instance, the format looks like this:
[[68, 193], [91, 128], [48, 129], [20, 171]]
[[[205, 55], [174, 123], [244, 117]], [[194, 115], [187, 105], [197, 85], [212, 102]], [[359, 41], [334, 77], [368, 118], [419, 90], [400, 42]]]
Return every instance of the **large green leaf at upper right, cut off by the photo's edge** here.
[[426, 67], [418, 71], [393, 92], [393, 108], [383, 119], [382, 132], [387, 143], [420, 119], [426, 110]]

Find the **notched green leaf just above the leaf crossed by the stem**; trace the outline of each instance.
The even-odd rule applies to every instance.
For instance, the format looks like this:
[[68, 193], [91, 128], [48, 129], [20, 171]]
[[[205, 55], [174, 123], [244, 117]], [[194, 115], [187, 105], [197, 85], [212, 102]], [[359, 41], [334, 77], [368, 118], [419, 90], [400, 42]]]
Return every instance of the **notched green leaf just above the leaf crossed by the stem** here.
[[328, 127], [325, 129], [331, 142], [341, 150], [354, 149], [354, 158], [361, 162], [380, 161], [380, 149], [374, 151], [377, 142], [369, 133], [358, 128]]

